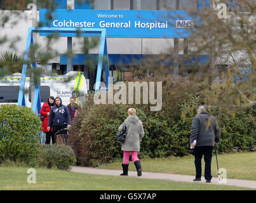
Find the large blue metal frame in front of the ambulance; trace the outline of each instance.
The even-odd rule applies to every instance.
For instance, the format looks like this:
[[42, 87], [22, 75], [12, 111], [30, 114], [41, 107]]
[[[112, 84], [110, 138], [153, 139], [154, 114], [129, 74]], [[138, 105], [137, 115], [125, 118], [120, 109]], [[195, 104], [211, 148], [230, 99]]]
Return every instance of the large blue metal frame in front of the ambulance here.
[[[33, 32], [39, 32], [44, 34], [58, 34], [61, 37], [77, 37], [77, 29], [76, 28], [56, 28], [56, 27], [29, 27], [27, 32], [27, 43], [25, 46], [25, 55], [24, 60], [27, 62], [29, 60], [29, 49], [31, 44], [33, 44]], [[95, 91], [100, 89], [100, 79], [102, 76], [102, 65], [104, 63], [104, 56], [107, 60], [105, 62], [105, 77], [106, 77], [106, 85], [109, 85], [109, 58], [107, 53], [107, 36], [105, 29], [79, 29], [79, 37], [101, 37], [100, 39], [100, 52], [98, 57], [98, 68], [97, 68], [97, 78], [96, 78], [96, 86]], [[33, 69], [36, 69], [36, 63], [32, 64]], [[24, 64], [22, 67], [22, 79], [20, 81], [20, 90], [18, 92], [18, 105], [25, 106], [25, 96], [24, 96], [24, 88], [25, 88], [25, 80], [27, 73], [27, 64]], [[35, 93], [32, 110], [36, 113], [41, 110], [41, 97], [39, 91], [39, 84], [35, 85]]]

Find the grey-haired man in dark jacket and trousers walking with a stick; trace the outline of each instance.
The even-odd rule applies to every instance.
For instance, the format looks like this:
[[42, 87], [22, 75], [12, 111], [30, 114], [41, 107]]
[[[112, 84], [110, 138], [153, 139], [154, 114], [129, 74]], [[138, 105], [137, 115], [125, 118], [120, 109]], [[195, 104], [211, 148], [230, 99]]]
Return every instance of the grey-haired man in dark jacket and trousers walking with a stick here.
[[[196, 144], [194, 144], [196, 140]], [[198, 108], [198, 115], [192, 121], [190, 143], [194, 147], [194, 164], [196, 166], [196, 178], [194, 181], [201, 181], [201, 159], [205, 159], [205, 180], [210, 183], [212, 180], [211, 164], [212, 150], [214, 145], [220, 141], [220, 127], [212, 115], [206, 112], [204, 106]]]

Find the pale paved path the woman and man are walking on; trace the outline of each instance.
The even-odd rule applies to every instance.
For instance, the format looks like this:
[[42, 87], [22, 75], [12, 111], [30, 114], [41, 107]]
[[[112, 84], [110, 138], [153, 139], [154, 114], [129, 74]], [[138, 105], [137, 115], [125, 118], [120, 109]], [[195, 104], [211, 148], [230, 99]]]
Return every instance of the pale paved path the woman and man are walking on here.
[[[123, 171], [120, 170], [109, 170], [109, 169], [97, 169], [93, 167], [80, 167], [80, 166], [72, 166], [72, 172], [75, 173], [87, 173], [87, 174], [101, 174], [101, 175], [109, 175], [109, 176], [119, 176]], [[128, 177], [137, 177], [137, 172], [129, 171]], [[137, 178], [147, 178], [147, 179], [161, 179], [161, 180], [170, 180], [170, 181], [182, 181], [182, 182], [190, 182], [193, 183], [194, 176], [188, 175], [180, 175], [180, 174], [168, 174], [168, 173], [149, 173], [142, 171], [142, 176]], [[205, 183], [205, 178], [201, 178], [201, 181], [197, 183]], [[218, 183], [218, 178], [212, 178], [212, 183], [207, 184], [215, 184], [220, 185]], [[221, 185], [229, 185], [236, 187], [245, 187], [245, 188], [253, 188], [256, 189], [256, 181], [252, 180], [238, 180], [238, 179], [227, 179], [227, 183], [222, 183]]]

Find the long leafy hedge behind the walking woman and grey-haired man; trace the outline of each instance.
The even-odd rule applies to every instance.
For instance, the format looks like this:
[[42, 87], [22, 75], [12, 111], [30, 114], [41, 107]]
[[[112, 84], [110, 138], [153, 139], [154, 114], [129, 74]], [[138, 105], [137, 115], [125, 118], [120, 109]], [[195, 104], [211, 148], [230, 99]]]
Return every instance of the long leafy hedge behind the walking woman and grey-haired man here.
[[[150, 105], [95, 105], [93, 95], [72, 122], [72, 148], [81, 165], [97, 166], [123, 157], [116, 142], [118, 127], [125, 121], [130, 107], [137, 109], [145, 136], [140, 144], [139, 157], [168, 157], [192, 154], [189, 139], [191, 123], [199, 105], [210, 94], [205, 82], [190, 82], [184, 78], [155, 77], [163, 81], [163, 105], [151, 112]], [[141, 82], [141, 80], [140, 80]], [[232, 147], [250, 150], [255, 145], [255, 108], [238, 110], [234, 116], [220, 108], [212, 109], [222, 131], [219, 152], [231, 152]]]

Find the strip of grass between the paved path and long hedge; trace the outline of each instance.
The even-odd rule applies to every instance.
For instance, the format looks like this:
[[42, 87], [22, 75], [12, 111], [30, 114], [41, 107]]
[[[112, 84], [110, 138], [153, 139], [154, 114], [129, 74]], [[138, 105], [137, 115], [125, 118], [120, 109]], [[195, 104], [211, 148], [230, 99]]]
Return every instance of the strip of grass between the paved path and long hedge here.
[[[213, 153], [214, 154], [214, 153]], [[219, 169], [227, 171], [227, 178], [256, 180], [256, 152], [236, 152], [232, 154], [217, 155]], [[195, 175], [194, 156], [168, 157], [161, 159], [141, 159], [142, 171], [156, 173], [174, 173]], [[121, 169], [122, 160], [112, 164], [104, 164], [98, 168]], [[129, 170], [135, 171], [133, 162], [130, 161]], [[205, 161], [202, 159], [202, 173], [204, 174]], [[203, 175], [202, 174], [202, 175]], [[215, 154], [212, 157], [212, 176], [218, 177]]]

